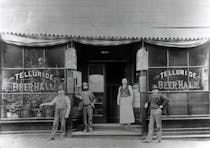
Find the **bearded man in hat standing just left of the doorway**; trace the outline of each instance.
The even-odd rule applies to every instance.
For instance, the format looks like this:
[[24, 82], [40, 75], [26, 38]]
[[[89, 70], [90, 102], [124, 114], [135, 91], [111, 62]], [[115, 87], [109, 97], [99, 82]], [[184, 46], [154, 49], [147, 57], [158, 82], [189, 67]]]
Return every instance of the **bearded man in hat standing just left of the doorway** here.
[[82, 91], [75, 97], [81, 99], [84, 132], [93, 132], [93, 108], [96, 100], [93, 93], [88, 90], [87, 82], [82, 84]]

